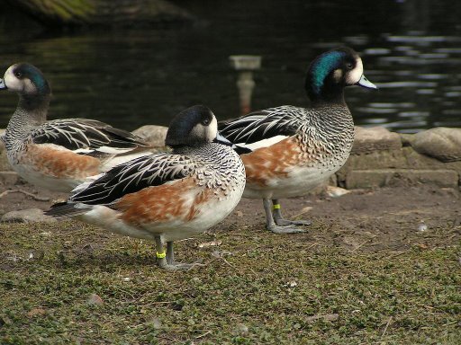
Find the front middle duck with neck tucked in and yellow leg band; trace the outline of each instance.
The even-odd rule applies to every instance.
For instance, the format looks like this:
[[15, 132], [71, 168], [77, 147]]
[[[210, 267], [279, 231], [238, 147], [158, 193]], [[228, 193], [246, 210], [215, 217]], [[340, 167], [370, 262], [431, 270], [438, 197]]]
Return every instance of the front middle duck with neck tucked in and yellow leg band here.
[[245, 189], [245, 167], [203, 105], [176, 115], [166, 145], [172, 152], [120, 164], [77, 186], [46, 214], [77, 217], [113, 233], [155, 241], [161, 269], [194, 267], [196, 262], [174, 260], [174, 241], [201, 233], [230, 214]]

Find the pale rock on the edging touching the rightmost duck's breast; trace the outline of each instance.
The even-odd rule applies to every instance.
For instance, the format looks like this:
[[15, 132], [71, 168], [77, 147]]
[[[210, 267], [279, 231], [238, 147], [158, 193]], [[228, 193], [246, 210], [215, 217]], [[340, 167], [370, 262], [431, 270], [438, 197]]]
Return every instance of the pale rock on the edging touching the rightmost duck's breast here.
[[395, 150], [402, 147], [401, 137], [384, 127], [356, 127], [352, 154], [367, 154], [380, 150]]

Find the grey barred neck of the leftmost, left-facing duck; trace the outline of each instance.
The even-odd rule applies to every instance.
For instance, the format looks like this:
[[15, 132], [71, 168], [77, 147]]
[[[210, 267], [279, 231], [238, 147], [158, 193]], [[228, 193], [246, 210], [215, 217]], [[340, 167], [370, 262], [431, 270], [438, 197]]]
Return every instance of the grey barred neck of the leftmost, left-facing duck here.
[[16, 111], [5, 130], [5, 142], [23, 140], [33, 128], [47, 120], [50, 94], [21, 95]]

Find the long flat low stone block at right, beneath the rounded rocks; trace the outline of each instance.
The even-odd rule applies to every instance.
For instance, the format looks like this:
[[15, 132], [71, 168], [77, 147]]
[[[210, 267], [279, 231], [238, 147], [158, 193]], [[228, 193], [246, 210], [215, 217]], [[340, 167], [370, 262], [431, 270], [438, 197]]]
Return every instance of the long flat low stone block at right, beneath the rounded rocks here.
[[434, 184], [438, 187], [457, 188], [459, 175], [455, 170], [378, 169], [356, 170], [348, 173], [348, 190], [398, 185]]

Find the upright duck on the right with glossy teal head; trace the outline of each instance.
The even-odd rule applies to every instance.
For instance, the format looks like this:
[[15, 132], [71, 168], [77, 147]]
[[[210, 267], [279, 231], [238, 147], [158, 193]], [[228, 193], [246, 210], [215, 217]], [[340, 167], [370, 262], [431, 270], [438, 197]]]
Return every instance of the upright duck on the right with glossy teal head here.
[[288, 220], [279, 199], [306, 195], [346, 163], [354, 120], [344, 89], [376, 89], [362, 59], [348, 47], [315, 57], [305, 78], [308, 108], [283, 105], [220, 122], [219, 130], [240, 153], [247, 173], [243, 198], [262, 199], [266, 227], [277, 234], [304, 232], [311, 220]]

